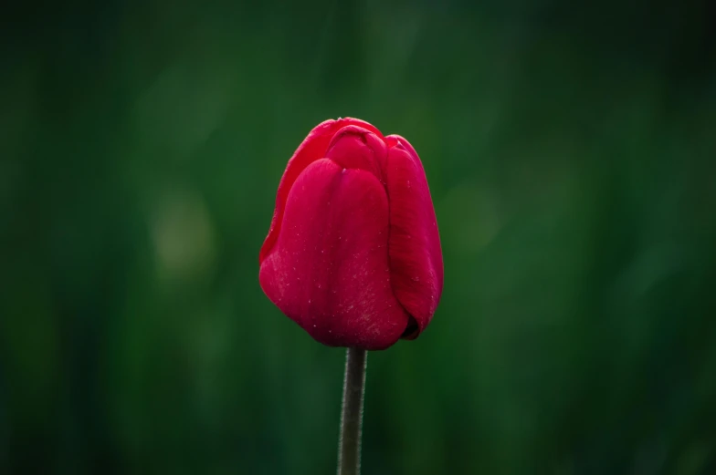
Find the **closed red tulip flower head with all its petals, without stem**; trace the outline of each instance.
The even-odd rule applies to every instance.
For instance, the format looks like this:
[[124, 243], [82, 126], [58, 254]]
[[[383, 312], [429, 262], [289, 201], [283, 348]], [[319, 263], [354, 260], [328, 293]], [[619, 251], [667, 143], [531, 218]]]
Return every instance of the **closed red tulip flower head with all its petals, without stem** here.
[[359, 119], [312, 129], [279, 183], [259, 263], [271, 302], [324, 345], [377, 350], [416, 338], [443, 289], [416, 150]]

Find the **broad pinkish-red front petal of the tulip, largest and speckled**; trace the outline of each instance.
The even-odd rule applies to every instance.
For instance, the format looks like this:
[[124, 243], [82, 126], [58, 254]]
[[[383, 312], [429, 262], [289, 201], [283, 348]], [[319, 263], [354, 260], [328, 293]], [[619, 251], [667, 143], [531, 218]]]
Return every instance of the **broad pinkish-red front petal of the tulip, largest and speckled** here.
[[409, 315], [388, 266], [388, 201], [371, 172], [316, 160], [286, 201], [259, 281], [281, 311], [328, 346], [391, 346]]

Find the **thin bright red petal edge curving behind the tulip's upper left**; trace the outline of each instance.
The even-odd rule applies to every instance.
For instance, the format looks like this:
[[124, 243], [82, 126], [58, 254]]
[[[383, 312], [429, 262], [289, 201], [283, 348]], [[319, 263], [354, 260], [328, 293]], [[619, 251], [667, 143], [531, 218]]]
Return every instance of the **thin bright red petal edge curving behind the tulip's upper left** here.
[[383, 137], [380, 131], [375, 129], [374, 126], [368, 122], [351, 118], [326, 120], [311, 130], [308, 137], [303, 140], [299, 148], [294, 152], [293, 157], [290, 158], [289, 164], [283, 172], [283, 177], [281, 177], [279, 191], [276, 193], [276, 207], [274, 208], [273, 218], [271, 219], [269, 235], [266, 237], [266, 240], [261, 246], [261, 251], [258, 253], [259, 263], [263, 262], [271, 250], [271, 247], [276, 243], [276, 238], [279, 235], [279, 229], [283, 219], [284, 207], [286, 206], [286, 199], [289, 196], [289, 191], [293, 183], [299, 178], [300, 172], [305, 170], [313, 161], [322, 159], [335, 132], [349, 125], [356, 125], [363, 129], [370, 130], [378, 137]]

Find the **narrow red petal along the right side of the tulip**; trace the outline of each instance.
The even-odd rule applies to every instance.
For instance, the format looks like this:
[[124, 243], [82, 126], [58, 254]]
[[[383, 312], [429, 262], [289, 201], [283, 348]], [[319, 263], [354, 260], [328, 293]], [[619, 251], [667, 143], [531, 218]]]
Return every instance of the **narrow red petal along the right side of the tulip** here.
[[415, 150], [400, 136], [385, 140], [392, 146], [386, 170], [391, 284], [397, 300], [416, 319], [415, 337], [430, 323], [443, 290], [440, 236], [425, 170]]

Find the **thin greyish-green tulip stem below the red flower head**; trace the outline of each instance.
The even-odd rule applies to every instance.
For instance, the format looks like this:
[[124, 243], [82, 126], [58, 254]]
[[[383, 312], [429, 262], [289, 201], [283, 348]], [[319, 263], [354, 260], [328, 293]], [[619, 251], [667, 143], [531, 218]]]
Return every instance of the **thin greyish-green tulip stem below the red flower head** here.
[[348, 348], [343, 379], [341, 438], [338, 441], [338, 475], [361, 473], [361, 426], [367, 352]]

